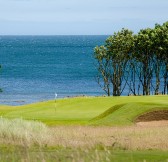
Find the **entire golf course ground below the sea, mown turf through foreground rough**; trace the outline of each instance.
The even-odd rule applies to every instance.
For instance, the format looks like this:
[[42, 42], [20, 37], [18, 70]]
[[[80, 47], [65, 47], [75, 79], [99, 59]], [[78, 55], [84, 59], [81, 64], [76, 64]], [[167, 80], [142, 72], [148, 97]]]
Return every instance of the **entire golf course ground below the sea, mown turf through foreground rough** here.
[[167, 95], [1, 105], [0, 161], [167, 161], [167, 113]]

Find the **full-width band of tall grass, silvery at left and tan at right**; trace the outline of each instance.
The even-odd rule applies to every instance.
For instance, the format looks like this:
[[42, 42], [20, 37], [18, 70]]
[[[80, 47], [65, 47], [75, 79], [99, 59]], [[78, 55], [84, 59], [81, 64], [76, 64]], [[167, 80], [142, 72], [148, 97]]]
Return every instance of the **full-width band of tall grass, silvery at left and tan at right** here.
[[151, 127], [57, 126], [37, 121], [0, 119], [0, 143], [64, 148], [112, 147], [124, 150], [168, 150], [168, 125]]

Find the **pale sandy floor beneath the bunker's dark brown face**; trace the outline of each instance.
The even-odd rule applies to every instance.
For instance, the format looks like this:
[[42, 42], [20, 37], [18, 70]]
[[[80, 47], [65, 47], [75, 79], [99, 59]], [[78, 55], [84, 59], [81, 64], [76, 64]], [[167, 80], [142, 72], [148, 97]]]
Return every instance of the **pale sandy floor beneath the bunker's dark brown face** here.
[[141, 127], [162, 127], [168, 126], [168, 120], [137, 122], [136, 125]]

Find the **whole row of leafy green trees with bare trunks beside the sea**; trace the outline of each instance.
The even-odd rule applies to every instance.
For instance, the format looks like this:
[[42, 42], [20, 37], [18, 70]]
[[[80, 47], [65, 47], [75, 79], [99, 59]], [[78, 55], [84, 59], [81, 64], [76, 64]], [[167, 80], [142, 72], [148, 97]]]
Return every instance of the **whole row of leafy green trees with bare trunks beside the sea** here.
[[122, 29], [97, 46], [94, 56], [97, 81], [108, 96], [126, 88], [133, 95], [168, 94], [168, 22], [135, 35]]

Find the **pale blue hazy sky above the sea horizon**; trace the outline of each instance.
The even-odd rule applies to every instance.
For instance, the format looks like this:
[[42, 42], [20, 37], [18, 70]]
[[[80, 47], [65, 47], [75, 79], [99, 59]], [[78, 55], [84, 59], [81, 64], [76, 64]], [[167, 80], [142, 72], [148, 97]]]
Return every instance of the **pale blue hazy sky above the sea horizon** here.
[[168, 21], [168, 0], [0, 0], [0, 35], [135, 33]]

